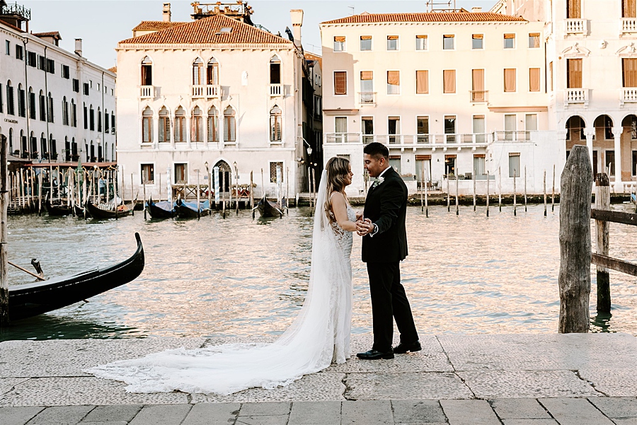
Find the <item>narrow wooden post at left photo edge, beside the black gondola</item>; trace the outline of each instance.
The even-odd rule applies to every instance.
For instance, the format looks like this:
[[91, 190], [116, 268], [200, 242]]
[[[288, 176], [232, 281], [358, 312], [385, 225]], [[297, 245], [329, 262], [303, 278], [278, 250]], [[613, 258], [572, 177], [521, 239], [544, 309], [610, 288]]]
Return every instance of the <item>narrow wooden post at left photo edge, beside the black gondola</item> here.
[[6, 136], [0, 134], [0, 327], [8, 325], [8, 281], [6, 280]]

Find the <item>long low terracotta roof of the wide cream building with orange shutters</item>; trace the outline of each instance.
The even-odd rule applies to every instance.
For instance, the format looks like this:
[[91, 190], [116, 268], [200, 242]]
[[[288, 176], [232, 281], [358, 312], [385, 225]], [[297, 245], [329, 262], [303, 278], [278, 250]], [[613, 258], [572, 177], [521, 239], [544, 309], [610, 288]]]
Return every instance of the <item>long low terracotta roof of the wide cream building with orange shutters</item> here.
[[428, 13], [361, 13], [323, 23], [379, 23], [379, 22], [526, 22], [520, 16], [490, 12], [428, 12]]

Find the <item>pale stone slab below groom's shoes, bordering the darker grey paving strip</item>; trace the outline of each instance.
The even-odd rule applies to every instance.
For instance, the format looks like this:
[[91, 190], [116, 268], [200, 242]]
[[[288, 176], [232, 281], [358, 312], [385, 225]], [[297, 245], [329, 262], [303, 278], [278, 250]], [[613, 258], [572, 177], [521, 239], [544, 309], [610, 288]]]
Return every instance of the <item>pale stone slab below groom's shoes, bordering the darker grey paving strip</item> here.
[[473, 397], [454, 373], [352, 373], [345, 383], [350, 400]]

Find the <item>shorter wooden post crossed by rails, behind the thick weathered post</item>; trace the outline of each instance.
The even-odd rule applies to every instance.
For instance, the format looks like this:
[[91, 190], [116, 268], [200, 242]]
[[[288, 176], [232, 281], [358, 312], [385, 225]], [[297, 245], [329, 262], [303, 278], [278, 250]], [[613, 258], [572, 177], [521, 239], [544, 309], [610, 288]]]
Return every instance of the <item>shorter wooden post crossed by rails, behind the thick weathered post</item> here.
[[[595, 176], [595, 209], [610, 209], [610, 188], [608, 176], [599, 173]], [[595, 220], [597, 244], [595, 252], [608, 257], [610, 223]], [[597, 266], [597, 313], [610, 313], [610, 279], [606, 267]]]

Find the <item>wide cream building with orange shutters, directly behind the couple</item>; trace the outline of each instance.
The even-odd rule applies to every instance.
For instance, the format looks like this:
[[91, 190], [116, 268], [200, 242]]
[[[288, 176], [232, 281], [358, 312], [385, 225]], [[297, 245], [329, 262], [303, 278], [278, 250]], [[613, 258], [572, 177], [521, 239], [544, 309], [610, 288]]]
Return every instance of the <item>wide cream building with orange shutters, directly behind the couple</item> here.
[[[320, 25], [323, 149], [348, 155], [364, 192], [362, 146], [386, 144], [410, 192], [424, 179], [460, 193], [541, 192], [544, 170], [559, 173], [565, 146], [554, 142], [544, 23], [500, 13], [384, 13]], [[520, 178], [522, 177], [522, 178]]]

